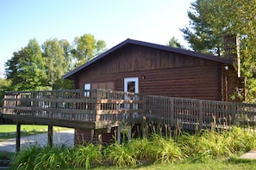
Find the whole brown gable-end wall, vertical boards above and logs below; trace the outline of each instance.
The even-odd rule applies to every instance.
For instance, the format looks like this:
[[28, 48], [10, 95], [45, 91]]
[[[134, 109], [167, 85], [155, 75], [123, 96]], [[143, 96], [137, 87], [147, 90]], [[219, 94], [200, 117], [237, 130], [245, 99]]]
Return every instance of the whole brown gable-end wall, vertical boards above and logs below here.
[[91, 64], [75, 77], [84, 83], [112, 82], [123, 90], [123, 79], [139, 78], [139, 93], [203, 100], [222, 100], [222, 64], [165, 52], [147, 46], [123, 46]]

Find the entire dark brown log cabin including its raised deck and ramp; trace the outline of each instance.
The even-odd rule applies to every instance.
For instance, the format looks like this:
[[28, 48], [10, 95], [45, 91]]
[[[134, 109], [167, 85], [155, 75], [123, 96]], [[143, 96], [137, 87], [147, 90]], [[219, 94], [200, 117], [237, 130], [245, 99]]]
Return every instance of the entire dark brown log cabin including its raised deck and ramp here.
[[3, 118], [16, 121], [17, 150], [21, 124], [47, 124], [50, 144], [53, 125], [75, 128], [75, 143], [120, 142], [122, 131], [140, 135], [140, 124], [185, 130], [214, 122], [222, 129], [255, 125], [255, 104], [227, 102], [246, 99], [239, 59], [230, 56], [126, 39], [67, 73], [75, 89], [5, 92]]

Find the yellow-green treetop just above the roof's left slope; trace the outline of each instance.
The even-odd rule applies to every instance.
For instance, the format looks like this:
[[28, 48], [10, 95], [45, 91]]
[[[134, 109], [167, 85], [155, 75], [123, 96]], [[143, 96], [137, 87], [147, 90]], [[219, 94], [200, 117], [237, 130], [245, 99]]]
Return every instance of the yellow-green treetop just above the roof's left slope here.
[[84, 64], [105, 50], [106, 44], [103, 40], [97, 40], [91, 34], [84, 34], [74, 39], [72, 56], [76, 59], [75, 66]]

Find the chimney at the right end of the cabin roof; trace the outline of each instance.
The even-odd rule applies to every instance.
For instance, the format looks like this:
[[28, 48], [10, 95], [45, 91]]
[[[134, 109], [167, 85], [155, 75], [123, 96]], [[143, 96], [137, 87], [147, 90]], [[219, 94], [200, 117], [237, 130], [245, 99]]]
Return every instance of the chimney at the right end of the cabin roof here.
[[224, 35], [224, 57], [234, 59], [234, 68], [240, 77], [240, 40], [235, 34]]

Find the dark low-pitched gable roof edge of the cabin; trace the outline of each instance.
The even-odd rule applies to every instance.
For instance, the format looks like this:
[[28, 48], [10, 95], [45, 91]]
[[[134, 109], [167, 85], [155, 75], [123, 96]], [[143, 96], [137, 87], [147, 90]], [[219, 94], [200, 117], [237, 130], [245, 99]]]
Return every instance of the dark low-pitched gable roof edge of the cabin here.
[[122, 46], [126, 46], [128, 44], [133, 44], [133, 45], [137, 45], [137, 46], [147, 46], [147, 47], [150, 47], [150, 48], [155, 48], [155, 49], [163, 50], [163, 51], [166, 51], [166, 52], [175, 52], [175, 53], [179, 53], [179, 54], [188, 55], [188, 56], [191, 56], [191, 57], [194, 57], [194, 58], [202, 58], [202, 59], [211, 60], [211, 61], [215, 61], [215, 62], [223, 63], [223, 64], [233, 64], [233, 59], [229, 59], [229, 58], [216, 57], [216, 56], [209, 55], [209, 54], [203, 54], [201, 52], [192, 52], [192, 51], [184, 50], [184, 49], [181, 49], [181, 48], [174, 48], [174, 47], [170, 47], [170, 46], [157, 45], [157, 44], [144, 42], [144, 41], [140, 41], [140, 40], [126, 39], [126, 40], [122, 41], [122, 43], [112, 47], [111, 49], [109, 49], [106, 52], [103, 52], [102, 54], [100, 54], [96, 58], [91, 59], [89, 62], [79, 66], [75, 70], [72, 70], [72, 71], [66, 73], [66, 75], [63, 76], [63, 78], [64, 79], [74, 79], [74, 75], [76, 73], [78, 73], [80, 70], [83, 70], [84, 68], [86, 68], [89, 65], [97, 62], [101, 58], [105, 58], [110, 53], [115, 52], [117, 49], [121, 48]]

